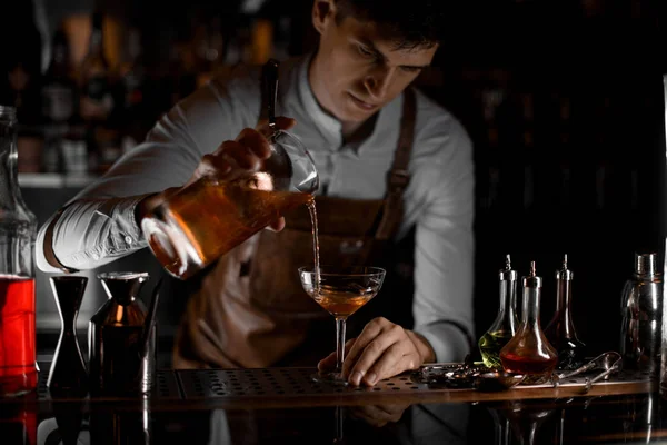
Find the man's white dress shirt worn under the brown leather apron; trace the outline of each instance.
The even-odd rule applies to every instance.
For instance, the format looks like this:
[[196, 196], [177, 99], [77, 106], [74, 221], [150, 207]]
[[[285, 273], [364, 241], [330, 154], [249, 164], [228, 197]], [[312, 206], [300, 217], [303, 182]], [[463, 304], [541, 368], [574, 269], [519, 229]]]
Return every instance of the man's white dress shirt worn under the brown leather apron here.
[[[402, 95], [380, 111], [370, 137], [342, 140], [341, 123], [317, 102], [308, 81], [310, 57], [280, 65], [277, 115], [297, 120], [290, 130], [308, 147], [327, 195], [381, 199], [397, 147]], [[239, 68], [215, 78], [180, 101], [106, 175], [79, 192], [53, 230], [53, 251], [67, 267], [91, 269], [147, 247], [133, 216], [148, 194], [182, 186], [201, 157], [241, 129], [255, 127], [260, 109], [259, 69]], [[472, 145], [460, 122], [417, 91], [410, 182], [398, 237], [416, 225], [415, 332], [438, 362], [461, 360], [474, 337], [472, 278], [475, 170]], [[47, 221], [38, 235], [37, 265], [44, 258]], [[462, 328], [462, 330], [461, 330]]]

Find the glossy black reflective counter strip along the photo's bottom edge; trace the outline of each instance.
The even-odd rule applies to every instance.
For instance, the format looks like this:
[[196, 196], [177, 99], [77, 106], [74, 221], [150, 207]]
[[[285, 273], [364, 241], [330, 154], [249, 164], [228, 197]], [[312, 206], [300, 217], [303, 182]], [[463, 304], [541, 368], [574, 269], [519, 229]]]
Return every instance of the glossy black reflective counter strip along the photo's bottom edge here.
[[[7, 405], [7, 404], [6, 404]], [[639, 444], [664, 437], [656, 394], [477, 405], [394, 403], [257, 409], [17, 403], [0, 409], [11, 444]], [[74, 442], [77, 441], [77, 442]]]

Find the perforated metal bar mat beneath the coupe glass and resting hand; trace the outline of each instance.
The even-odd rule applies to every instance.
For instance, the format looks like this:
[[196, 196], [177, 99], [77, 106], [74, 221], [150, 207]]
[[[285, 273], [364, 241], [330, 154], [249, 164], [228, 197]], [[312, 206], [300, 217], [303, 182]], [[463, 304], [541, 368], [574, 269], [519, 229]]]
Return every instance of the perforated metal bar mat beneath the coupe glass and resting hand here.
[[355, 388], [315, 382], [315, 368], [178, 370], [186, 399], [210, 397], [321, 396], [372, 393], [426, 392], [428, 385], [396, 376], [372, 388]]

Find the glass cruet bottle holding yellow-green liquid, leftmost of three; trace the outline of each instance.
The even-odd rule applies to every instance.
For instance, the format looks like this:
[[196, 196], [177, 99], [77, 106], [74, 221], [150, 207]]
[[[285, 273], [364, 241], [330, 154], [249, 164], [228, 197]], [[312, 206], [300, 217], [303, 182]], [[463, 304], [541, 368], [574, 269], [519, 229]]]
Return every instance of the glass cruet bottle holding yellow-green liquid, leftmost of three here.
[[506, 257], [505, 269], [499, 273], [500, 306], [491, 327], [479, 339], [479, 352], [484, 364], [501, 368], [500, 349], [514, 337], [519, 325], [517, 319], [517, 271], [511, 269], [511, 258]]

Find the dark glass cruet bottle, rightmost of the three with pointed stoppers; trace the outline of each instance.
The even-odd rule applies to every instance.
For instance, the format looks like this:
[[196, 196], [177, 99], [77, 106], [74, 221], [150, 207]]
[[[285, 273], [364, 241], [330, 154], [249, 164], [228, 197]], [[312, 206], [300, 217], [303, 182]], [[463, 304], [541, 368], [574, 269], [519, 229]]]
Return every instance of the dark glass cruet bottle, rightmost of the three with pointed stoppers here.
[[556, 271], [556, 313], [545, 328], [547, 339], [558, 353], [560, 370], [576, 369], [584, 364], [586, 345], [577, 338], [573, 320], [571, 296], [574, 274], [567, 268], [567, 254]]

